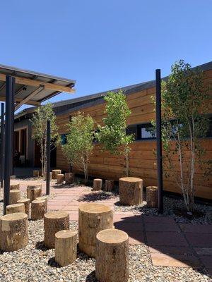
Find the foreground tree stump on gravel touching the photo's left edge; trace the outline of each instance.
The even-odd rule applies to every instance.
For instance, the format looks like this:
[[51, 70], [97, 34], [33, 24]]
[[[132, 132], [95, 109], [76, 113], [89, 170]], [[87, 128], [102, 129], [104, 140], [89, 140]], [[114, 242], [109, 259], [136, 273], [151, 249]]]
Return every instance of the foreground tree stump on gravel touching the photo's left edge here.
[[23, 212], [6, 214], [0, 220], [0, 248], [13, 252], [28, 245], [28, 216]]

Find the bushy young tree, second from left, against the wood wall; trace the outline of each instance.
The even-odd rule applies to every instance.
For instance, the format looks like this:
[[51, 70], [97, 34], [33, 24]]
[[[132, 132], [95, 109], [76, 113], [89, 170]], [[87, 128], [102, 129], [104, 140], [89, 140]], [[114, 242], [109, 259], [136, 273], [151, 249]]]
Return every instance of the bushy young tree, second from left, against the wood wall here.
[[93, 137], [93, 118], [78, 112], [69, 122], [67, 142], [62, 148], [69, 164], [83, 171], [85, 183], [88, 182], [88, 163], [93, 150]]

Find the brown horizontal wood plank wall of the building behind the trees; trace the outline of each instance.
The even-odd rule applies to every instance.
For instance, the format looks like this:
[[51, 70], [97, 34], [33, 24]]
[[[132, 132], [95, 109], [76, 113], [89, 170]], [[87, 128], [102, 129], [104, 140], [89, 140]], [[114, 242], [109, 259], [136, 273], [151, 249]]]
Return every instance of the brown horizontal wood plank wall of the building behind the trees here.
[[[212, 71], [205, 72], [206, 83], [212, 85]], [[155, 119], [154, 105], [151, 96], [155, 95], [155, 87], [141, 92], [129, 94], [126, 97], [127, 104], [131, 109], [131, 116], [129, 116], [128, 125], [136, 123], [148, 123]], [[212, 93], [211, 93], [212, 97]], [[212, 103], [209, 102], [209, 112], [212, 112]], [[102, 118], [105, 116], [105, 104], [97, 104], [95, 106], [85, 106], [81, 112], [90, 114], [95, 119], [96, 123], [102, 124]], [[69, 123], [69, 116], [76, 114], [75, 111], [70, 111], [69, 114], [57, 116], [57, 125], [59, 126], [59, 133], [67, 133], [67, 123]], [[212, 159], [212, 139], [205, 138], [201, 140], [202, 145], [206, 149], [207, 159]], [[144, 185], [157, 185], [157, 171], [154, 150], [156, 148], [155, 140], [141, 140], [136, 141], [131, 145], [130, 154], [130, 173], [131, 176], [137, 176], [143, 179]], [[179, 178], [179, 163], [177, 156], [175, 159], [175, 171], [168, 171], [169, 177], [164, 178], [164, 189], [171, 192], [180, 192], [176, 184], [176, 177]], [[61, 147], [57, 148], [57, 167], [64, 171], [69, 170], [69, 165], [66, 162]], [[124, 158], [112, 156], [109, 152], [103, 152], [100, 145], [95, 144], [92, 157], [90, 157], [90, 164], [88, 166], [88, 173], [90, 176], [101, 178], [112, 178], [118, 180], [124, 176]], [[212, 199], [212, 177], [206, 179], [202, 171], [197, 170], [196, 176], [196, 196], [206, 199]]]

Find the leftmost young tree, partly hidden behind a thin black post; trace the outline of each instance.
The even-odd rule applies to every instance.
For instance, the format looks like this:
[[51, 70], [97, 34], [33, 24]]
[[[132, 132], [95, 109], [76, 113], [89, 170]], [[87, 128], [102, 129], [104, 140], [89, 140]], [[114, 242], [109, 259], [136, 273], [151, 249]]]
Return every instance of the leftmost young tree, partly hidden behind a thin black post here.
[[42, 164], [42, 176], [45, 176], [46, 171], [46, 145], [47, 145], [47, 120], [51, 124], [51, 144], [50, 148], [54, 149], [59, 144], [60, 138], [57, 132], [58, 128], [55, 123], [56, 116], [52, 109], [52, 104], [47, 103], [43, 106], [38, 106], [35, 109], [35, 114], [31, 122], [33, 123], [33, 139], [40, 146], [41, 164]]

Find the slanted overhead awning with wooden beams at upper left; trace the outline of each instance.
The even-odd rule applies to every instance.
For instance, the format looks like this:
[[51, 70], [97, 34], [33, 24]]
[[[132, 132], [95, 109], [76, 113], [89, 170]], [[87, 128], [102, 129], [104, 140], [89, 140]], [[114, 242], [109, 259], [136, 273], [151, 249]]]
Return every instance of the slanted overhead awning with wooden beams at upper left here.
[[54, 75], [35, 73], [20, 68], [4, 66], [0, 64], [0, 101], [6, 100], [6, 75], [16, 78], [15, 85], [15, 109], [23, 104], [34, 106], [54, 97], [61, 92], [74, 93], [76, 81], [67, 78], [59, 78]]

